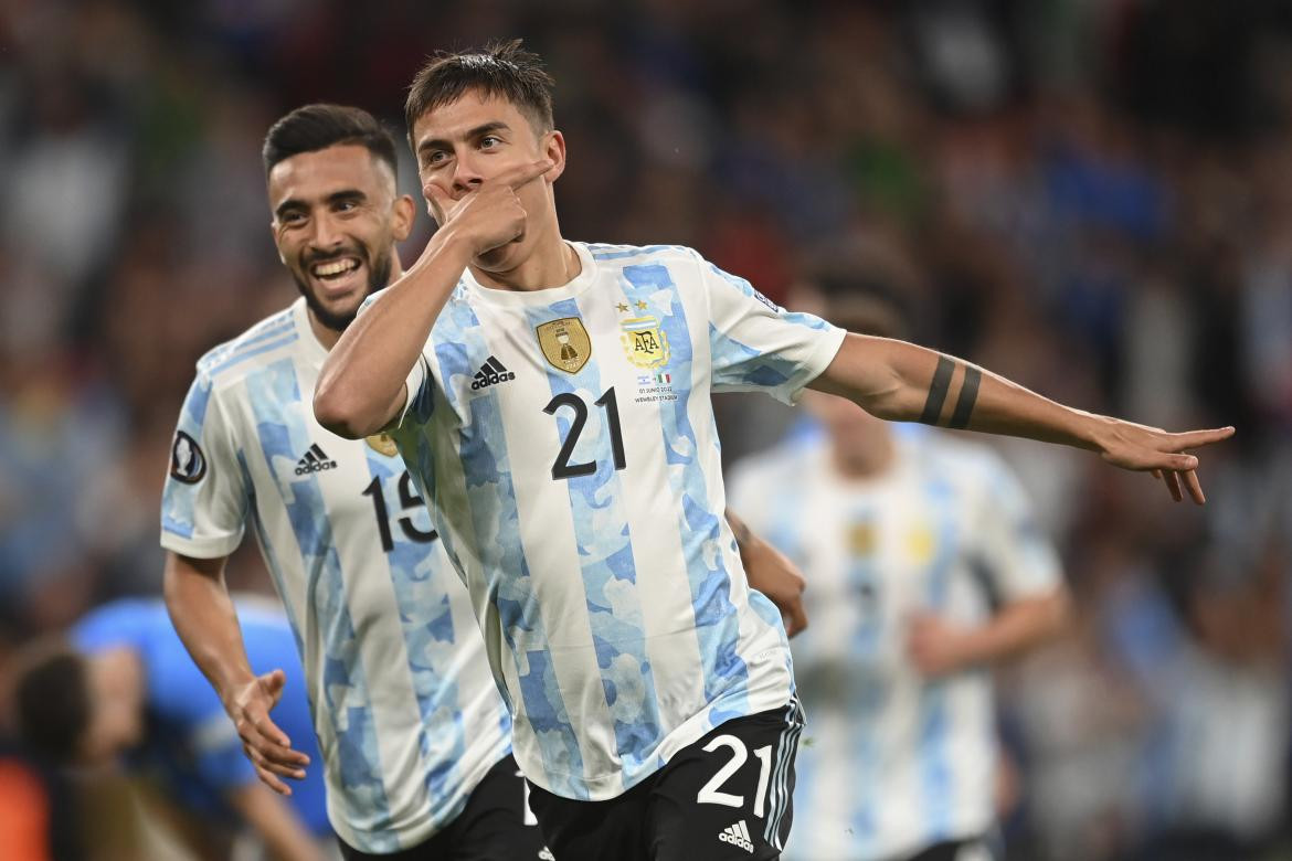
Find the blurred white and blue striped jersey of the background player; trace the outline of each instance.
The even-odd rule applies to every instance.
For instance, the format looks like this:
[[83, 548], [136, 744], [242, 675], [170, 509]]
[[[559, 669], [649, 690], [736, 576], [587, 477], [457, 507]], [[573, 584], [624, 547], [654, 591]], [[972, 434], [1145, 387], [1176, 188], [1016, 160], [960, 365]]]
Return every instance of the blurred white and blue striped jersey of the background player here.
[[916, 613], [986, 621], [1047, 594], [1058, 560], [991, 449], [894, 426], [882, 475], [841, 478], [823, 435], [736, 465], [731, 505], [804, 571], [795, 640], [811, 725], [798, 749], [786, 858], [880, 861], [991, 829], [996, 728], [988, 670], [926, 682], [907, 658]]

